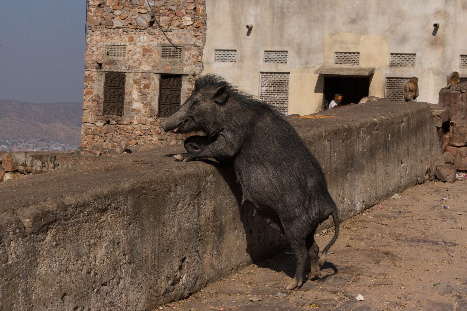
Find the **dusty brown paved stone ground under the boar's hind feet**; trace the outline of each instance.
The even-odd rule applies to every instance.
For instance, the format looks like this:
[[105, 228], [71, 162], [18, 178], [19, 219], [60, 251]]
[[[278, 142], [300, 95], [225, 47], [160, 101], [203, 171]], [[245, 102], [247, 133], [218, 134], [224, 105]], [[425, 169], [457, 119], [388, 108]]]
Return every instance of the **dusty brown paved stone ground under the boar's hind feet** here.
[[[283, 290], [294, 276], [295, 258], [282, 250], [160, 308], [467, 311], [466, 202], [466, 181], [413, 187], [341, 222], [319, 280]], [[318, 235], [323, 248], [333, 230]], [[355, 299], [359, 294], [363, 301]]]

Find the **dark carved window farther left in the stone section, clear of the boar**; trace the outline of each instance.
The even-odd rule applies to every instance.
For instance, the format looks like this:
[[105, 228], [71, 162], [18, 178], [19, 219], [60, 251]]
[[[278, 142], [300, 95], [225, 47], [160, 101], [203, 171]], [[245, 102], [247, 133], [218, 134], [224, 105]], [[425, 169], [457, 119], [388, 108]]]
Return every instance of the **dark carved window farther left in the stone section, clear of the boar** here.
[[125, 74], [106, 73], [104, 83], [104, 114], [123, 116], [125, 101]]

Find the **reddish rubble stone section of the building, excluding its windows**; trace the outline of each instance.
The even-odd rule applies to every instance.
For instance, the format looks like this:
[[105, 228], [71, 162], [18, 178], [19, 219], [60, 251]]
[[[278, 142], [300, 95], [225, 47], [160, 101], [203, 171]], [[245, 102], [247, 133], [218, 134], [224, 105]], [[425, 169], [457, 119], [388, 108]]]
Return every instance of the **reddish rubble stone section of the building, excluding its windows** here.
[[[150, 7], [148, 6], [150, 5]], [[154, 12], [170, 40], [182, 48], [178, 59], [162, 58], [172, 46], [156, 23]], [[127, 145], [182, 143], [187, 135], [165, 133], [158, 117], [160, 75], [182, 75], [181, 103], [194, 90], [202, 71], [205, 44], [204, 0], [88, 1], [81, 153], [101, 145], [103, 153], [121, 140]], [[126, 46], [124, 57], [106, 56], [106, 45]], [[106, 72], [125, 73], [123, 116], [104, 115]]]

